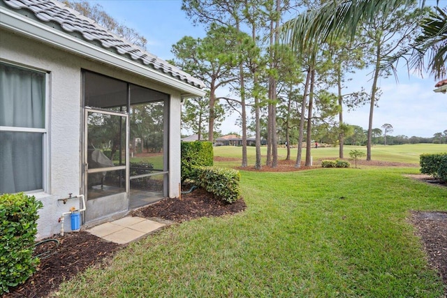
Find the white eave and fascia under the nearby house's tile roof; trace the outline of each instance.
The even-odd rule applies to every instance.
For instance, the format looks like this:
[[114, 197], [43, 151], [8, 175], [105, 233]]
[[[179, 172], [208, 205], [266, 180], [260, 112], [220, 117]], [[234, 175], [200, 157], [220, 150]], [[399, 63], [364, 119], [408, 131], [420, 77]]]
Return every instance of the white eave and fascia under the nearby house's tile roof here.
[[59, 47], [68, 52], [73, 52], [83, 57], [89, 59], [94, 59], [100, 61], [104, 64], [109, 64], [111, 66], [116, 66], [127, 70], [136, 75], [142, 75], [144, 77], [149, 77], [152, 80], [166, 84], [174, 89], [180, 91], [182, 97], [202, 97], [205, 96], [206, 92], [197, 87], [193, 87], [191, 84], [182, 82], [166, 75], [160, 73], [157, 70], [151, 69], [147, 66], [139, 64], [136, 61], [126, 59], [125, 57], [115, 54], [114, 52], [109, 52], [101, 47], [91, 45], [90, 43], [75, 38], [73, 36], [64, 34], [57, 29], [45, 26], [34, 20], [24, 17], [23, 15], [13, 13], [0, 6], [0, 27], [10, 29], [22, 33], [29, 38], [34, 38], [44, 43], [48, 43], [55, 47]]

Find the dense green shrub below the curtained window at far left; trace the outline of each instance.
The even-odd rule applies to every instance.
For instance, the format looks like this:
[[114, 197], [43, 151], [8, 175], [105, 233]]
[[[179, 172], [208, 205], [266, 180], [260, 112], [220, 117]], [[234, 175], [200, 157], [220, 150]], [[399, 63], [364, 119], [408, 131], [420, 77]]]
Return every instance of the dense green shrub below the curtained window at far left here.
[[0, 195], [0, 295], [36, 271], [39, 260], [33, 251], [41, 207], [42, 202], [24, 193]]

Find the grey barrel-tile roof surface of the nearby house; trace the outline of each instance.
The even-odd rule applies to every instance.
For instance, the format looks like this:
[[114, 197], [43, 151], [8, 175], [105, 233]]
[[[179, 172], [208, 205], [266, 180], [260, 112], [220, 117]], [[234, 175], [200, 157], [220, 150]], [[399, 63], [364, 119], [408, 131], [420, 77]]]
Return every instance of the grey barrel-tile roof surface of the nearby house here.
[[55, 0], [3, 0], [3, 2], [24, 15], [27, 15], [26, 10], [31, 11], [36, 20], [50, 27], [54, 27], [54, 23], [56, 23], [59, 24], [59, 29], [65, 33], [75, 36], [78, 36], [80, 33], [87, 43], [99, 45], [107, 50], [115, 50], [117, 54], [138, 61], [161, 73], [167, 73], [177, 80], [184, 81], [194, 87], [200, 89], [205, 87], [201, 80], [120, 38], [115, 33], [101, 27], [101, 25], [81, 15], [76, 10], [68, 8], [63, 3]]

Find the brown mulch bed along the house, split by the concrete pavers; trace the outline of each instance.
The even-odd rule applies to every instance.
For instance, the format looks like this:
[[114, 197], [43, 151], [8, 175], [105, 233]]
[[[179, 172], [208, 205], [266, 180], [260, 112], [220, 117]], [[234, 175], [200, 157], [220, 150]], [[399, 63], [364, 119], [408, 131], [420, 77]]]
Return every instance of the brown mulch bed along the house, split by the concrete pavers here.
[[[203, 216], [235, 214], [245, 208], [246, 204], [242, 198], [233, 204], [226, 204], [214, 198], [211, 193], [196, 189], [182, 195], [181, 200], [166, 198], [142, 207], [134, 211], [133, 216], [162, 218], [181, 223]], [[59, 246], [54, 246], [53, 241], [48, 241], [38, 246], [34, 252], [34, 255], [38, 255], [51, 251], [52, 255], [41, 260], [36, 274], [19, 287], [10, 289], [10, 293], [3, 295], [3, 298], [47, 297], [57, 290], [62, 282], [70, 280], [87, 267], [106, 265], [110, 257], [125, 247], [83, 231], [52, 238], [59, 240]]]

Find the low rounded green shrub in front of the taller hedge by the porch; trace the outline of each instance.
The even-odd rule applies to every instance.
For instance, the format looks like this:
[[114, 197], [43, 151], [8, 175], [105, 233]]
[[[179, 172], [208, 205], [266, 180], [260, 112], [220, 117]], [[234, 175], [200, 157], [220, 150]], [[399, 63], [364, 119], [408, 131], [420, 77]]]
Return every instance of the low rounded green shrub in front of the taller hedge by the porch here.
[[196, 183], [220, 200], [233, 203], [240, 198], [240, 173], [221, 167], [194, 167]]

